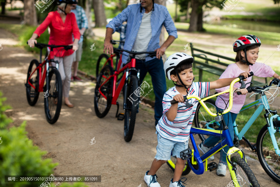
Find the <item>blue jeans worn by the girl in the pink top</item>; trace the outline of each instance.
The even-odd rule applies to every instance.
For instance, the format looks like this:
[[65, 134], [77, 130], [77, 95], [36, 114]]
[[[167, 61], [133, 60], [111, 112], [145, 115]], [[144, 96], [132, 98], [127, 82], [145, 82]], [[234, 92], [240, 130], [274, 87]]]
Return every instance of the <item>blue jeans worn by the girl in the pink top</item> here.
[[[217, 111], [219, 111], [219, 110], [224, 110], [224, 109], [221, 109], [221, 108], [217, 108], [216, 107], [216, 109], [217, 109]], [[228, 125], [228, 130], [229, 130], [229, 132], [230, 132], [230, 134], [231, 134], [231, 140], [233, 141], [233, 139], [234, 139], [234, 129], [233, 129], [233, 123], [235, 122], [235, 119], [236, 119], [236, 117], [237, 117], [237, 114], [235, 114], [235, 113], [231, 113], [231, 112], [228, 112], [228, 113], [226, 113], [225, 115], [224, 115], [224, 119], [225, 119], [225, 122], [227, 123], [228, 122], [228, 124], [226, 124], [226, 125]], [[221, 128], [222, 128], [222, 124], [221, 124], [221, 126], [220, 126], [220, 128], [218, 128], [217, 130], [221, 130]], [[213, 147], [213, 146], [215, 146], [217, 143], [218, 143], [218, 141], [220, 141], [221, 140], [221, 137], [214, 137], [214, 136], [210, 136], [209, 138], [207, 138], [204, 142], [203, 142], [203, 145], [204, 146], [206, 146], [206, 147]], [[224, 151], [227, 153], [227, 151], [229, 150], [229, 147], [228, 146], [226, 146], [226, 147], [224, 147]], [[226, 163], [226, 153], [224, 153], [224, 151], [223, 150], [221, 150], [220, 152], [221, 152], [221, 156], [220, 156], [220, 163], [223, 163], [223, 164], [227, 164]]]

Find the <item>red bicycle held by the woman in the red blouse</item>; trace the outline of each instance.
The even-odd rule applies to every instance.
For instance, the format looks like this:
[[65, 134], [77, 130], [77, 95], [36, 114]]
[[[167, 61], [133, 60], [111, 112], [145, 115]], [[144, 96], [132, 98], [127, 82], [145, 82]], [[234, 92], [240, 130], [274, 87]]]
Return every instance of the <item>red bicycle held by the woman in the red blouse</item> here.
[[[26, 97], [29, 105], [34, 106], [39, 93], [44, 92], [46, 118], [50, 124], [54, 124], [58, 120], [62, 105], [62, 80], [58, 72], [59, 62], [54, 61], [53, 49], [62, 47], [61, 50], [69, 50], [72, 49], [72, 46], [54, 46], [42, 43], [37, 43], [35, 46], [40, 49], [40, 63], [36, 59], [30, 62], [25, 84]], [[42, 49], [45, 47], [50, 48], [50, 53], [42, 63]], [[55, 67], [49, 66], [51, 62], [56, 64]]]

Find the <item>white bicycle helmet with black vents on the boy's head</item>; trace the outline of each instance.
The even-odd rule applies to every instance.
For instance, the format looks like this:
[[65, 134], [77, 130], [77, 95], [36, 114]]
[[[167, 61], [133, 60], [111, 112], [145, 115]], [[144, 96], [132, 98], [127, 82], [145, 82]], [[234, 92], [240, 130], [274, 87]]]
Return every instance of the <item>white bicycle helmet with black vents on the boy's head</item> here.
[[177, 65], [179, 65], [180, 63], [191, 63], [192, 64], [193, 62], [194, 62], [194, 58], [190, 55], [187, 55], [185, 53], [174, 53], [166, 59], [164, 65], [163, 65], [165, 76], [169, 80], [171, 80], [170, 72], [172, 70], [174, 70]]

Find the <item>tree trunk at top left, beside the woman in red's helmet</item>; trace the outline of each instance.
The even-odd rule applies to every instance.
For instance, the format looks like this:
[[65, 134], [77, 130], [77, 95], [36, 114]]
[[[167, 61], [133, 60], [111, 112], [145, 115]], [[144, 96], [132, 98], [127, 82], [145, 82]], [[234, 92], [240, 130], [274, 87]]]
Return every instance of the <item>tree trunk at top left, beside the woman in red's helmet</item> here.
[[24, 0], [23, 21], [27, 25], [37, 26], [37, 8], [34, 6], [34, 3], [34, 0]]

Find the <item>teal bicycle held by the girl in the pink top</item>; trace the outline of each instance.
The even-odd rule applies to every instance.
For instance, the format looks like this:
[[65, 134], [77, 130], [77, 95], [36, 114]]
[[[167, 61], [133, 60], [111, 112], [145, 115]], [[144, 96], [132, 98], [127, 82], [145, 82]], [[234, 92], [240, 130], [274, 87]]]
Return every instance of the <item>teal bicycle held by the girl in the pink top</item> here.
[[[276, 110], [270, 110], [270, 99], [267, 99], [265, 93], [268, 93], [267, 90], [269, 89], [276, 89], [276, 91], [274, 92], [276, 93], [278, 91], [278, 87], [280, 86], [279, 83], [279, 79], [273, 79], [269, 85], [266, 85], [264, 87], [248, 87], [248, 92], [255, 92], [254, 94], [260, 94], [261, 97], [259, 100], [243, 106], [240, 112], [243, 112], [254, 106], [258, 106], [258, 108], [240, 132], [238, 131], [236, 122], [234, 122], [233, 124], [235, 132], [233, 140], [234, 146], [238, 147], [239, 141], [243, 139], [252, 150], [256, 150], [259, 162], [261, 163], [265, 172], [278, 184], [280, 184], [280, 117], [279, 115], [277, 115]], [[273, 84], [275, 84], [276, 86], [272, 86]], [[274, 99], [273, 94], [272, 98]], [[213, 99], [208, 99], [204, 103], [212, 112], [217, 111], [215, 101]], [[210, 116], [203, 108], [201, 108], [201, 106], [202, 105], [198, 103], [197, 110], [194, 116], [195, 127], [212, 130], [220, 128], [220, 122], [217, 122], [215, 118]], [[248, 131], [257, 117], [261, 114], [263, 109], [265, 110], [264, 118], [266, 119], [267, 124], [264, 125], [264, 127], [262, 127], [262, 129], [260, 130], [257, 137], [257, 143], [251, 145], [250, 142], [244, 137], [244, 134]], [[203, 134], [198, 134], [198, 136], [202, 141], [204, 141], [208, 137], [207, 135]]]

